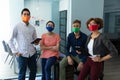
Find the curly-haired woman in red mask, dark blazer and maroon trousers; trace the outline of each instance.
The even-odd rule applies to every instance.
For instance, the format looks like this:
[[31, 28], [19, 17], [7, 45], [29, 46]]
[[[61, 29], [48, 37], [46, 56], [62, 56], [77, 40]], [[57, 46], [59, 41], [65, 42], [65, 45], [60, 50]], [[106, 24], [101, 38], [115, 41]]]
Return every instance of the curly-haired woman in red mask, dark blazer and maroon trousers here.
[[78, 80], [85, 80], [88, 74], [90, 74], [90, 80], [98, 80], [102, 71], [103, 61], [112, 58], [117, 53], [117, 50], [107, 36], [99, 32], [103, 28], [103, 20], [101, 18], [90, 18], [86, 24], [91, 32], [86, 42], [89, 56], [79, 74]]

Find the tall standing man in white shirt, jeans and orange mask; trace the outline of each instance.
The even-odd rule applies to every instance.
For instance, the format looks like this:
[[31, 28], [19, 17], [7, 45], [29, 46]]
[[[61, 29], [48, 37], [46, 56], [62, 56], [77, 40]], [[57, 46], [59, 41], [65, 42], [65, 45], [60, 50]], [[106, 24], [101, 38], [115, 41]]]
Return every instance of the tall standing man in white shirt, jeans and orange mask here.
[[[36, 77], [36, 51], [31, 44], [33, 40], [37, 38], [35, 28], [29, 23], [30, 11], [24, 8], [21, 11], [22, 22], [18, 23], [12, 32], [12, 36], [9, 41], [9, 46], [16, 55], [19, 67], [18, 80], [25, 80], [25, 74], [27, 67], [30, 70], [29, 80], [35, 80]], [[17, 42], [17, 48], [14, 44]]]

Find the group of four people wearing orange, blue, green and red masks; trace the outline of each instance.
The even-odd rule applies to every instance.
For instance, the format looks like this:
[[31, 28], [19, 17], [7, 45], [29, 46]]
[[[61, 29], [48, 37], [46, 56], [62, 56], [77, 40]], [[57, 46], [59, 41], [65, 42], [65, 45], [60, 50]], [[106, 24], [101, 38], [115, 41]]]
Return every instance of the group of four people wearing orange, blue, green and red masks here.
[[[27, 67], [30, 70], [29, 80], [35, 80], [37, 72], [36, 51], [31, 44], [37, 38], [35, 28], [29, 23], [30, 11], [24, 8], [21, 12], [22, 22], [18, 23], [10, 39], [10, 47], [16, 55], [19, 67], [18, 80], [25, 80]], [[75, 20], [72, 23], [72, 32], [67, 37], [65, 57], [60, 61], [60, 80], [65, 80], [65, 67], [77, 64], [80, 71], [78, 80], [85, 80], [90, 74], [90, 80], [98, 80], [102, 69], [102, 63], [112, 58], [117, 53], [115, 46], [99, 30], [103, 28], [101, 18], [90, 18], [87, 29], [91, 32], [89, 36], [83, 33], [81, 21]], [[53, 21], [46, 23], [47, 33], [42, 34], [40, 40], [42, 80], [51, 80], [51, 67], [59, 58], [60, 36], [53, 32], [55, 24]], [[17, 42], [17, 48], [14, 44]]]

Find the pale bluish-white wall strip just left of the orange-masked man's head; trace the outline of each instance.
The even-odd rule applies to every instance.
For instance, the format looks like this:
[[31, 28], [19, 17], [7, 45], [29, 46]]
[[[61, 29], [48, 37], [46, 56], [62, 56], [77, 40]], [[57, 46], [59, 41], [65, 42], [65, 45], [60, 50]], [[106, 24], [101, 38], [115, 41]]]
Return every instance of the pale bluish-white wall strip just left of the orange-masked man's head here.
[[21, 11], [24, 8], [24, 0], [9, 0], [10, 27], [11, 29], [21, 21]]

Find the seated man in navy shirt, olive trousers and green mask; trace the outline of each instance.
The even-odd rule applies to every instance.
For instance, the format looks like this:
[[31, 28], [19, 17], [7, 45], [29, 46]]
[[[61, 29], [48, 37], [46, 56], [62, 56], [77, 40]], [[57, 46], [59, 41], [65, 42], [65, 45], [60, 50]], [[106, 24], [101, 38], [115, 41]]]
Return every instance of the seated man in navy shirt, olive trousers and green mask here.
[[72, 24], [72, 31], [68, 35], [66, 56], [60, 62], [60, 80], [65, 80], [65, 67], [67, 65], [78, 64], [77, 70], [79, 71], [83, 67], [83, 63], [86, 60], [85, 56], [85, 44], [87, 35], [80, 31], [81, 21], [75, 20]]

